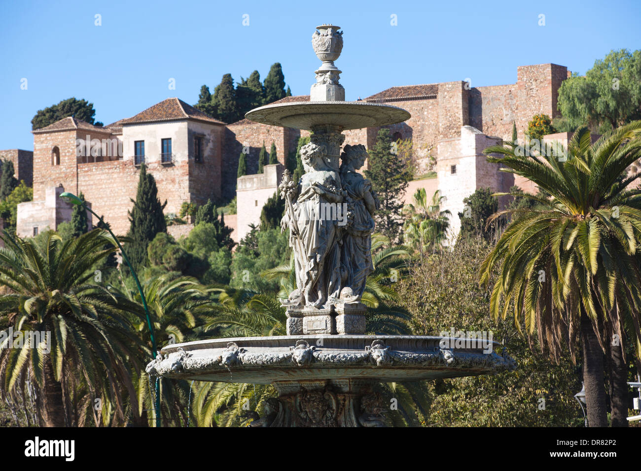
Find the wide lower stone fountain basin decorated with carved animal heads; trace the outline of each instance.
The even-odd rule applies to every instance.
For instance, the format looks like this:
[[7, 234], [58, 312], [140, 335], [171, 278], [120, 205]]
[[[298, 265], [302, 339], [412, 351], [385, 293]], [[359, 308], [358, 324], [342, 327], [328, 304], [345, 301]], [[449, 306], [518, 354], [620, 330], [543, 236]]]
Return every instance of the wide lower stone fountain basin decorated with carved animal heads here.
[[360, 379], [418, 381], [516, 368], [497, 342], [442, 336], [297, 335], [217, 338], [164, 347], [147, 373], [174, 379], [272, 384]]

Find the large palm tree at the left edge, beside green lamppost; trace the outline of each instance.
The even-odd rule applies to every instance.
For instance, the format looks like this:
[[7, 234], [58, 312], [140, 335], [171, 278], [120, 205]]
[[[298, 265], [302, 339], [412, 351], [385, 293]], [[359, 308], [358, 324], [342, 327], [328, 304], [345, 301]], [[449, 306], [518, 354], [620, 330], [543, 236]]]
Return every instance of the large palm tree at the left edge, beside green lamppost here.
[[[7, 232], [2, 239], [0, 392], [15, 397], [30, 382], [41, 426], [124, 423], [124, 402], [136, 404], [140, 342], [119, 297], [92, 283], [113, 240], [99, 229], [67, 242], [52, 231], [44, 246]], [[8, 329], [24, 338], [20, 347], [6, 348]], [[31, 333], [46, 334], [38, 342]]]

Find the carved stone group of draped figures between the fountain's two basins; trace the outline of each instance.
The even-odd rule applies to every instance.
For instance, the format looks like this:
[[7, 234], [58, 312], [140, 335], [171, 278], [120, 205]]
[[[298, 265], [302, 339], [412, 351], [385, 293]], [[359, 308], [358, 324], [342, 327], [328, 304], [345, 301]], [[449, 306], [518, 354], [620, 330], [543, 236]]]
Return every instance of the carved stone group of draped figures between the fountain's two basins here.
[[326, 146], [301, 147], [305, 173], [298, 182], [285, 170], [281, 228], [290, 230], [296, 290], [283, 304], [328, 308], [358, 302], [372, 266], [371, 235], [378, 208], [371, 183], [356, 170], [367, 159], [364, 145], [345, 145], [340, 169]]

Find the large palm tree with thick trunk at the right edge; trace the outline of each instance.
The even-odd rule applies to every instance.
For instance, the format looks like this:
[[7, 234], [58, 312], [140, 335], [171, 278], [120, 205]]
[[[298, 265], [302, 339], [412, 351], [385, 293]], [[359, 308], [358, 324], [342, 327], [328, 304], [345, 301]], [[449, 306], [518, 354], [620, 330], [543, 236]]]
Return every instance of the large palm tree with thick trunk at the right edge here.
[[488, 161], [528, 178], [549, 197], [515, 193], [542, 206], [494, 215], [516, 212], [519, 218], [481, 265], [481, 283], [489, 282], [498, 265], [492, 315], [505, 317], [512, 306], [517, 326], [523, 319], [528, 335], [536, 331], [553, 356], [569, 343], [574, 359], [580, 332], [588, 422], [607, 426], [603, 351], [612, 334], [624, 338], [625, 326], [634, 340], [641, 340], [641, 190], [628, 189], [641, 174], [627, 174], [641, 158], [641, 122], [615, 129], [594, 144], [587, 129], [578, 129], [567, 155], [555, 151], [544, 147], [538, 155], [523, 156], [513, 142], [485, 149], [501, 154]]

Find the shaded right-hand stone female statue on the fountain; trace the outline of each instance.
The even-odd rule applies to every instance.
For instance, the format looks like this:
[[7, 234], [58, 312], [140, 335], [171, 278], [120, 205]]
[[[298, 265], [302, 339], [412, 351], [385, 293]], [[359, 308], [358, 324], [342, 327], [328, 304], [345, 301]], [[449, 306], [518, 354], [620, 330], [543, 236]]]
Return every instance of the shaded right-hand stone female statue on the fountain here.
[[[351, 212], [351, 222], [344, 227], [341, 249], [341, 264], [344, 272], [344, 290], [351, 288], [351, 294], [360, 299], [365, 290], [365, 279], [372, 271], [372, 231], [374, 231], [374, 211], [378, 209], [378, 199], [369, 180], [356, 170], [363, 167], [367, 151], [362, 144], [345, 145], [340, 156], [340, 179], [347, 192], [347, 204]], [[346, 298], [350, 293], [341, 293]]]

